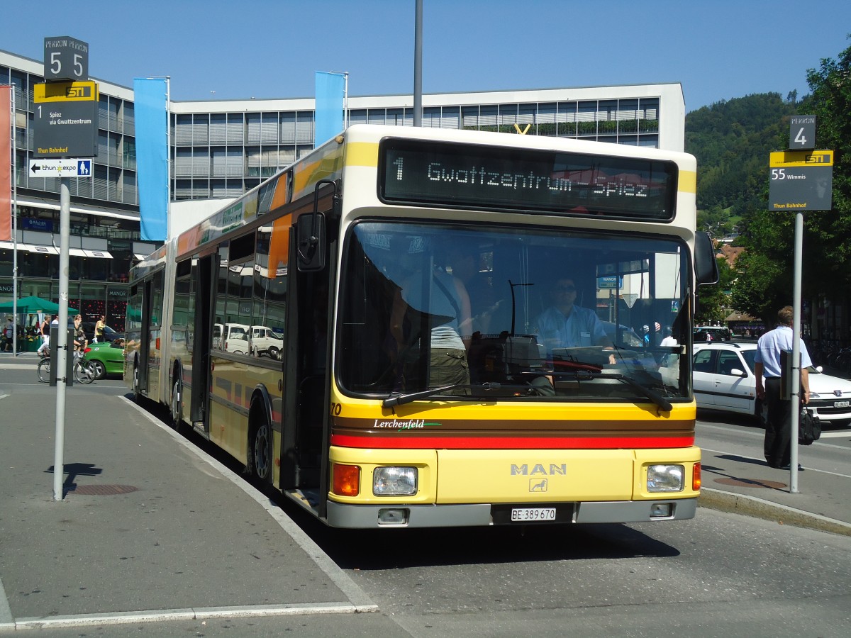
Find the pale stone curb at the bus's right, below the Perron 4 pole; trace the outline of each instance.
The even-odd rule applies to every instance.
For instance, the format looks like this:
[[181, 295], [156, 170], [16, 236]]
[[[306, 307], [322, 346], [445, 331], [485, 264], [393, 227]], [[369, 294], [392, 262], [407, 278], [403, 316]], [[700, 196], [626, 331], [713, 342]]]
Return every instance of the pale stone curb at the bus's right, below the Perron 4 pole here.
[[745, 516], [761, 518], [764, 521], [776, 521], [780, 525], [808, 527], [809, 529], [819, 530], [820, 532], [851, 536], [851, 524], [846, 522], [796, 510], [785, 505], [763, 500], [762, 498], [745, 496], [744, 494], [734, 494], [701, 487], [697, 504], [699, 507], [705, 507], [710, 510], [743, 514]]

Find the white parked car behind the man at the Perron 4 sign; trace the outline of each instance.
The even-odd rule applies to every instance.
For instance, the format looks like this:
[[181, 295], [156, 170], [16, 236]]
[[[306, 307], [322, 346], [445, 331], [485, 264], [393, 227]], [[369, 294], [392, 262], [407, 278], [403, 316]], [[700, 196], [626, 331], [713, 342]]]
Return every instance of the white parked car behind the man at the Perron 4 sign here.
[[[753, 373], [756, 343], [694, 344], [694, 398], [698, 407], [751, 414], [762, 420]], [[809, 367], [809, 405], [822, 421], [851, 424], [851, 381]]]

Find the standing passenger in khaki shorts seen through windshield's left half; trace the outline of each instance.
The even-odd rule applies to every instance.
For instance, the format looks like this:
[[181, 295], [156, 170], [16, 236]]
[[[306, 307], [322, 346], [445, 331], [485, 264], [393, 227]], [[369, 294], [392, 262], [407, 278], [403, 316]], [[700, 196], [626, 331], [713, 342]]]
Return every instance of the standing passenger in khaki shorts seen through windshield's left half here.
[[[402, 373], [405, 390], [415, 389], [410, 387], [412, 379], [406, 377], [410, 376], [408, 370], [416, 370], [418, 366], [404, 359], [414, 352], [411, 346], [419, 339], [423, 326], [429, 329], [431, 341], [426, 387], [469, 385], [465, 344], [471, 336], [470, 297], [464, 283], [443, 266], [436, 265], [431, 277], [422, 268], [414, 271], [403, 282], [393, 302], [390, 332], [397, 350], [395, 356], [400, 357], [397, 369]], [[469, 395], [470, 389], [460, 387], [449, 393]]]

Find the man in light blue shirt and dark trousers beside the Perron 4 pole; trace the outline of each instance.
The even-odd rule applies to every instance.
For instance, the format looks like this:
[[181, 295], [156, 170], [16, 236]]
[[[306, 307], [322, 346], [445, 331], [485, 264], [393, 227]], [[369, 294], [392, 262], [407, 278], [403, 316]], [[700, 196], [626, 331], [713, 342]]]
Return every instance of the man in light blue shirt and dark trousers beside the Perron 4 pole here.
[[[763, 452], [766, 462], [774, 468], [788, 470], [790, 464], [792, 402], [781, 397], [780, 388], [780, 352], [792, 350], [792, 320], [794, 309], [785, 306], [777, 313], [778, 326], [769, 330], [757, 341], [757, 354], [754, 357], [753, 373], [757, 377], [757, 398], [768, 406], [768, 420], [765, 424]], [[801, 348], [801, 402], [809, 403], [810, 361], [807, 345], [800, 339]], [[763, 384], [762, 377], [765, 377]], [[798, 465], [798, 470], [801, 470]]]

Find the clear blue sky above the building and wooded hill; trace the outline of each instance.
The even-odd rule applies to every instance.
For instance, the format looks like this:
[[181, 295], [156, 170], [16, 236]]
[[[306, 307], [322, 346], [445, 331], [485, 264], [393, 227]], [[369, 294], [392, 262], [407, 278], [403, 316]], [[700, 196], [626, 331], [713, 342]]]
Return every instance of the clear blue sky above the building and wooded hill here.
[[[851, 46], [848, 0], [423, 0], [423, 92], [683, 84], [686, 110], [793, 89]], [[173, 100], [310, 98], [314, 71], [350, 95], [414, 90], [414, 0], [5, 0], [0, 48], [89, 43], [89, 74]], [[214, 93], [213, 93], [214, 92]]]

